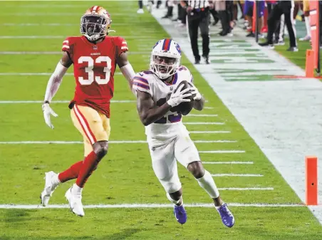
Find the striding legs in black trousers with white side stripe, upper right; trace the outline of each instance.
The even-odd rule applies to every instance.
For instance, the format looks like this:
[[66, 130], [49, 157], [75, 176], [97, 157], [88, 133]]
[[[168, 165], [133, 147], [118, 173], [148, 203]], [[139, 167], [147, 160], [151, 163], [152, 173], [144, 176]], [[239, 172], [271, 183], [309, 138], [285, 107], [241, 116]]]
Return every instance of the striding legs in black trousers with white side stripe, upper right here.
[[265, 43], [259, 43], [260, 46], [269, 46], [270, 48], [274, 48], [273, 45], [273, 33], [276, 30], [276, 25], [281, 19], [281, 15], [284, 14], [284, 21], [287, 27], [287, 31], [289, 31], [289, 42], [290, 47], [287, 51], [297, 52], [298, 48], [296, 46], [296, 30], [294, 26], [293, 19], [294, 12], [294, 1], [286, 1], [280, 0], [274, 8], [271, 10], [269, 14], [269, 19], [267, 21], [267, 25], [269, 27], [267, 32], [267, 41]]

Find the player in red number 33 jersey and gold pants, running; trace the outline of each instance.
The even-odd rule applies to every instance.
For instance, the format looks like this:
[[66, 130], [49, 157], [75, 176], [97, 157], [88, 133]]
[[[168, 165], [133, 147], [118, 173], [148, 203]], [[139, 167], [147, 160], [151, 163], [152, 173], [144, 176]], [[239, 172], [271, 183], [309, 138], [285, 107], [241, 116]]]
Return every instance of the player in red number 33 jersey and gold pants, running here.
[[110, 14], [101, 6], [92, 6], [85, 11], [81, 17], [83, 36], [68, 37], [63, 41], [63, 57], [48, 81], [42, 105], [46, 124], [53, 128], [51, 115], [56, 117], [57, 114], [50, 107], [51, 99], [61, 85], [63, 75], [73, 64], [76, 90], [69, 108], [73, 124], [83, 135], [85, 158], [59, 174], [46, 172], [41, 204], [48, 204], [58, 184], [76, 179], [76, 184], [68, 189], [65, 196], [71, 210], [78, 216], [84, 216], [81, 202], [84, 184], [108, 152], [110, 99], [113, 98], [116, 64], [127, 78], [131, 90], [135, 75], [128, 62], [126, 41], [121, 37], [108, 36], [111, 22]]

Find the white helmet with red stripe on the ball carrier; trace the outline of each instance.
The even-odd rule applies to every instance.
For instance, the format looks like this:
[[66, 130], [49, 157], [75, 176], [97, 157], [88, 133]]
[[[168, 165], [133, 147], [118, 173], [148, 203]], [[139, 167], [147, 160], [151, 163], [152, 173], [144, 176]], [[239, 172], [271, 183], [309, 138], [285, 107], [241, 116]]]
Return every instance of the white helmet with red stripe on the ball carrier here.
[[162, 39], [155, 43], [150, 60], [150, 71], [165, 80], [177, 72], [180, 66], [181, 49], [172, 39]]

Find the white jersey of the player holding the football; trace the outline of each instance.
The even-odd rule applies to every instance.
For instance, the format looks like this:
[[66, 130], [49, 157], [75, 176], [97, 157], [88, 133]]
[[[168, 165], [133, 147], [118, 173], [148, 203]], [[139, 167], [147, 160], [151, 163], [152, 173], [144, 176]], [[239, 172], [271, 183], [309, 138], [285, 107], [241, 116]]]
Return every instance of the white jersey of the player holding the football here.
[[[133, 88], [145, 93], [149, 93], [157, 106], [166, 103], [167, 95], [183, 81], [192, 83], [192, 75], [188, 68], [180, 66], [177, 72], [172, 75], [170, 83], [157, 78], [151, 71], [142, 71], [133, 78]], [[168, 99], [168, 98], [167, 98]], [[185, 125], [182, 124], [182, 115], [177, 112], [167, 112], [163, 118], [145, 126], [145, 134], [148, 139], [167, 140], [175, 137], [180, 131], [187, 132]]]

